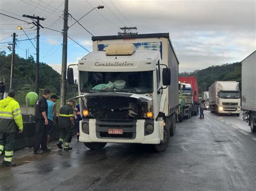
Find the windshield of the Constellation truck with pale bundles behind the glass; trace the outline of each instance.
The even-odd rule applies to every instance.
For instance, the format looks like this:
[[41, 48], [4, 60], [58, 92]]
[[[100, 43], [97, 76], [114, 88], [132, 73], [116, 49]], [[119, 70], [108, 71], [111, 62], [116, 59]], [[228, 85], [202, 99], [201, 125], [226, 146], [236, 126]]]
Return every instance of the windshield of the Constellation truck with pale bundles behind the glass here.
[[86, 93], [153, 92], [153, 71], [145, 72], [84, 72], [80, 71], [80, 90]]

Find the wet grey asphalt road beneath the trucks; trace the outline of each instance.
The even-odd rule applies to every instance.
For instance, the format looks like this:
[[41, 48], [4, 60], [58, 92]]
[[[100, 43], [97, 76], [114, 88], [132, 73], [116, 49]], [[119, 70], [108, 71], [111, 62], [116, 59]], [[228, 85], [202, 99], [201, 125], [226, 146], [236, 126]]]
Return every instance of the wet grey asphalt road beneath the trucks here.
[[[256, 190], [256, 135], [241, 117], [194, 116], [177, 124], [169, 148], [107, 144], [88, 150], [15, 152], [13, 168], [0, 167], [0, 190]], [[3, 157], [0, 157], [1, 160]]]

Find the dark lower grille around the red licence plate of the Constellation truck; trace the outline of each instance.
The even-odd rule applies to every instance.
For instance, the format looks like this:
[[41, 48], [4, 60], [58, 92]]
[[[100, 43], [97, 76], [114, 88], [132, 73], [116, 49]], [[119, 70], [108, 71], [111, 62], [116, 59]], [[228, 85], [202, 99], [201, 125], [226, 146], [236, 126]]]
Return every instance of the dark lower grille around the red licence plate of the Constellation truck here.
[[[96, 119], [96, 136], [103, 139], [135, 139], [136, 120], [134, 121], [100, 121]], [[123, 129], [122, 135], [109, 134], [109, 129]]]

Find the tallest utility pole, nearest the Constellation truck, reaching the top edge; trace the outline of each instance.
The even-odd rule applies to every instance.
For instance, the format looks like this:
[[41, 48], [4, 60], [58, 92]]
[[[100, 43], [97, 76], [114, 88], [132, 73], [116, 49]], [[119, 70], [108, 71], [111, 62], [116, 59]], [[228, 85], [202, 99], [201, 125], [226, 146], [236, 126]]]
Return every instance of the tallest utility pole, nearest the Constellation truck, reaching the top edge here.
[[64, 24], [63, 24], [63, 43], [62, 43], [62, 76], [60, 80], [60, 107], [66, 102], [66, 62], [68, 52], [68, 17], [69, 17], [69, 0], [65, 0]]

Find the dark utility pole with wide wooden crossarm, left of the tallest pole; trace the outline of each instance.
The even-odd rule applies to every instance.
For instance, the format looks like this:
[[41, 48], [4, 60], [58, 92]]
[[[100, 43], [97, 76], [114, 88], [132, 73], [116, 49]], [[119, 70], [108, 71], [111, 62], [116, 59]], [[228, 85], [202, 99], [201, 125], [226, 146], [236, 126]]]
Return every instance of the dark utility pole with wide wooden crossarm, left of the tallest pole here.
[[[27, 17], [27, 18], [31, 18], [33, 20], [33, 24], [35, 26], [37, 26], [36, 29], [36, 80], [35, 80], [35, 91], [36, 93], [39, 95], [39, 30], [40, 27], [42, 27], [42, 29], [44, 28], [39, 21], [40, 20], [45, 20], [45, 18], [41, 18], [39, 16], [35, 17], [34, 16], [30, 16], [30, 15], [23, 15], [22, 17]], [[36, 19], [36, 20], [34, 20]]]

